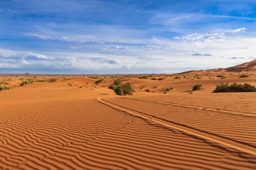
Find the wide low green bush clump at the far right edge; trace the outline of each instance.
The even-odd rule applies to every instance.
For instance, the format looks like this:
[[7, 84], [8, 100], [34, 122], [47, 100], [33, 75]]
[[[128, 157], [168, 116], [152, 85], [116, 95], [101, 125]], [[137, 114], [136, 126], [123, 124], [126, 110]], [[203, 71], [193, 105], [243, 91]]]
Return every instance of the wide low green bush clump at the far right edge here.
[[214, 93], [223, 93], [223, 92], [256, 92], [256, 87], [254, 85], [250, 85], [245, 83], [244, 85], [241, 84], [232, 84], [228, 85], [226, 84], [221, 84], [217, 85], [215, 90], [213, 91]]

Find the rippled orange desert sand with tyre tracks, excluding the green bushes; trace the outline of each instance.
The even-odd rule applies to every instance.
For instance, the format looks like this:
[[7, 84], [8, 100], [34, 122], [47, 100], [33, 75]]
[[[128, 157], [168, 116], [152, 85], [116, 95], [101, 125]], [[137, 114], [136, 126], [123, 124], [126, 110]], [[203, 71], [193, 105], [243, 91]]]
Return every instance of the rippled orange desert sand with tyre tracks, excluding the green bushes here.
[[[256, 93], [212, 91], [256, 71], [231, 71], [1, 76], [0, 169], [255, 170]], [[108, 88], [117, 78], [133, 95]]]

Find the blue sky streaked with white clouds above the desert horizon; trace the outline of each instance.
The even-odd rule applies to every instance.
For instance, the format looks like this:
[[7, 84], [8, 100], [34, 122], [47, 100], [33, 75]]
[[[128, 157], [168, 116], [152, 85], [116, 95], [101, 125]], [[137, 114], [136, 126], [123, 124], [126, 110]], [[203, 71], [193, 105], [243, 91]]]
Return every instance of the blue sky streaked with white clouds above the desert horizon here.
[[0, 72], [176, 73], [256, 59], [255, 0], [0, 0]]

